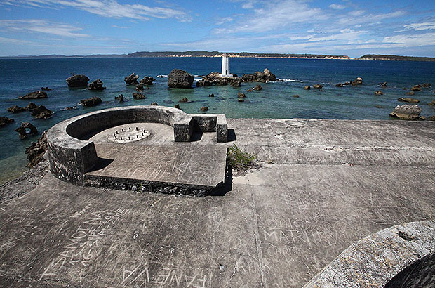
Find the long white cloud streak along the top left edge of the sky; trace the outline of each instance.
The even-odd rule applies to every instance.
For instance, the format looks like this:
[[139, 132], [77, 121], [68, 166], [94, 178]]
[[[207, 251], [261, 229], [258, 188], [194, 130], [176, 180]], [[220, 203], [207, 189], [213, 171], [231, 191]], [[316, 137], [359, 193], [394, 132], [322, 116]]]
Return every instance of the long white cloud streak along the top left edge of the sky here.
[[109, 18], [175, 18], [189, 21], [191, 18], [183, 11], [173, 8], [150, 7], [142, 4], [119, 4], [116, 0], [9, 0], [8, 5], [27, 5], [44, 8], [74, 7], [89, 13]]

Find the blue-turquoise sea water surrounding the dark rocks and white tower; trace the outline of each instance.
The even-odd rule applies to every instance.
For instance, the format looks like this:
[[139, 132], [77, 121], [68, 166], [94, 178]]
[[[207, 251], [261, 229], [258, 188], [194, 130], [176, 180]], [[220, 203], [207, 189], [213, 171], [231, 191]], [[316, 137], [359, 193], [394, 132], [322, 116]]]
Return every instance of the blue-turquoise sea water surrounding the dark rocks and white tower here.
[[[266, 67], [285, 82], [261, 84], [262, 91], [246, 93], [254, 83], [243, 84], [240, 88], [231, 86], [200, 87], [194, 89], [168, 89], [167, 78], [157, 78], [159, 74], [169, 74], [173, 68], [187, 70], [191, 74], [206, 75], [220, 71], [220, 58], [74, 58], [74, 59], [7, 59], [0, 60], [0, 116], [11, 117], [15, 123], [0, 129], [0, 181], [20, 174], [27, 164], [25, 147], [32, 140], [20, 140], [14, 129], [21, 122], [30, 121], [39, 131], [44, 131], [64, 119], [94, 110], [120, 105], [159, 105], [174, 106], [183, 97], [192, 103], [180, 103], [187, 113], [198, 113], [201, 106], [208, 106], [208, 113], [224, 113], [229, 118], [324, 118], [324, 119], [389, 119], [389, 112], [399, 97], [420, 99], [422, 115], [435, 114], [435, 63], [361, 61], [361, 60], [311, 60], [311, 59], [271, 59], [271, 58], [231, 58], [230, 71], [239, 76], [245, 73], [262, 71]], [[124, 77], [132, 72], [156, 78], [156, 84], [145, 90], [145, 100], [134, 100], [131, 94], [134, 87], [126, 86]], [[100, 78], [107, 86], [105, 91], [69, 89], [65, 79], [71, 74], [86, 74], [91, 81]], [[363, 78], [363, 86], [337, 88], [334, 85]], [[199, 79], [197, 77], [196, 79]], [[387, 81], [388, 88], [381, 89], [377, 84]], [[430, 89], [406, 96], [403, 87], [429, 82]], [[321, 91], [306, 91], [305, 85], [323, 84]], [[18, 96], [48, 86], [48, 98], [32, 102], [45, 105], [55, 114], [51, 119], [34, 120], [29, 112], [11, 114], [6, 111], [11, 105], [25, 106], [29, 100], [19, 100]], [[375, 96], [375, 90], [384, 95]], [[246, 93], [244, 103], [237, 102], [237, 93]], [[114, 100], [120, 93], [126, 102]], [[208, 94], [215, 94], [214, 98]], [[294, 98], [297, 94], [300, 98]], [[102, 105], [81, 107], [65, 111], [81, 99], [98, 96]], [[127, 98], [130, 98], [128, 100]], [[164, 102], [163, 102], [164, 101]], [[165, 103], [166, 102], [166, 103]], [[173, 103], [171, 103], [173, 102]], [[384, 109], [376, 108], [384, 106]]]

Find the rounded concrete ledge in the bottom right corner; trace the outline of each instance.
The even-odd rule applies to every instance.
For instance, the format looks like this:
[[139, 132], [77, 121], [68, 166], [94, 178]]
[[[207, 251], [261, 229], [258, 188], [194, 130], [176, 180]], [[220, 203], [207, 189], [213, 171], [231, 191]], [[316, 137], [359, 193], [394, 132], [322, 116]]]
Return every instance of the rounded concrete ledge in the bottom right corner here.
[[434, 287], [435, 221], [396, 225], [349, 246], [304, 288]]

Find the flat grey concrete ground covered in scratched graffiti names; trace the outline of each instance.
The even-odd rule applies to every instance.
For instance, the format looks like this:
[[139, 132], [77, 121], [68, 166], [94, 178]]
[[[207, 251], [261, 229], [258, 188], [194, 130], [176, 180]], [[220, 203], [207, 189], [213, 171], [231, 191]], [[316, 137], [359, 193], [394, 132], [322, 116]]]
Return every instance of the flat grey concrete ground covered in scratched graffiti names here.
[[0, 204], [0, 286], [302, 287], [361, 238], [435, 218], [434, 123], [228, 125], [237, 140], [227, 145], [264, 162], [224, 196], [79, 187], [47, 174]]

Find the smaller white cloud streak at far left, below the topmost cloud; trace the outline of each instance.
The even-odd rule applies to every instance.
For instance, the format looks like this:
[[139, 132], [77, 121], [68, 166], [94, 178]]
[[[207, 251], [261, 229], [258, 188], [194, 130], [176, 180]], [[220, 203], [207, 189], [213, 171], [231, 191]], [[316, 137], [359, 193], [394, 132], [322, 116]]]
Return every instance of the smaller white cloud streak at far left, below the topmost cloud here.
[[0, 27], [12, 32], [39, 32], [62, 37], [90, 37], [88, 34], [78, 33], [81, 28], [69, 24], [50, 22], [39, 19], [29, 20], [0, 20]]

